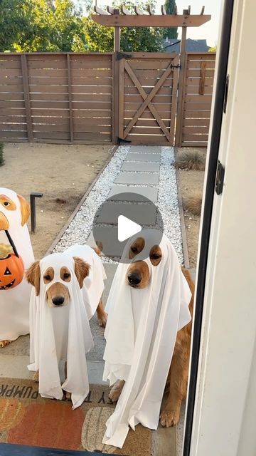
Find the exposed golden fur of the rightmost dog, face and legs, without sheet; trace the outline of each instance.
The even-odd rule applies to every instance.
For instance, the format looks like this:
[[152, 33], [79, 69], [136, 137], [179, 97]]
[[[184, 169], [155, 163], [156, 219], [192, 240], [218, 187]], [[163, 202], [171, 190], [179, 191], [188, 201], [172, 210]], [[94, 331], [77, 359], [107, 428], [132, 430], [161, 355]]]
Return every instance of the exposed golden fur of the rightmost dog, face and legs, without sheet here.
[[[142, 252], [144, 244], [144, 239], [142, 237], [137, 237], [129, 249], [129, 259], [134, 258], [137, 254]], [[157, 266], [160, 263], [161, 248], [159, 245], [155, 245], [151, 248], [149, 257], [154, 266]], [[194, 284], [188, 270], [183, 267], [181, 269], [183, 275], [186, 277], [188, 286], [191, 289], [192, 296], [189, 304], [189, 311], [192, 316]], [[145, 261], [134, 261], [134, 263], [129, 265], [126, 276], [127, 285], [132, 286], [133, 289], [143, 289], [149, 284], [149, 280], [149, 267]], [[186, 398], [191, 347], [191, 327], [192, 323], [190, 322], [177, 333], [174, 354], [171, 359], [171, 366], [166, 380], [165, 392], [168, 394], [168, 397], [164, 410], [162, 410], [160, 415], [160, 423], [164, 427], [171, 427], [178, 423], [181, 413], [181, 403], [182, 400]], [[114, 384], [110, 390], [110, 399], [112, 402], [118, 400], [123, 387], [124, 380], [119, 380]]]

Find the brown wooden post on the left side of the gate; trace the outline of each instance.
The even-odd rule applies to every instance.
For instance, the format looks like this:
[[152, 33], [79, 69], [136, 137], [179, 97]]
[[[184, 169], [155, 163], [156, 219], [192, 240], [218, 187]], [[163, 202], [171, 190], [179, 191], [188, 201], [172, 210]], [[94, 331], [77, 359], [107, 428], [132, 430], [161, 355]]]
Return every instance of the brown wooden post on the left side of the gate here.
[[114, 27], [114, 105], [113, 105], [113, 128], [114, 144], [118, 143], [119, 136], [119, 58], [120, 52], [120, 27]]

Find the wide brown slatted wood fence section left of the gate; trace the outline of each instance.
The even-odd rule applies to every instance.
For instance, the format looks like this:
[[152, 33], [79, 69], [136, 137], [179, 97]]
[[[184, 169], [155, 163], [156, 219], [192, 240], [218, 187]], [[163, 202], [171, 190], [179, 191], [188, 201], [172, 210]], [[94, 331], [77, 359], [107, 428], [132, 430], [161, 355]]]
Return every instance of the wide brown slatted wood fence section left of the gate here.
[[112, 53], [0, 55], [0, 139], [112, 142]]

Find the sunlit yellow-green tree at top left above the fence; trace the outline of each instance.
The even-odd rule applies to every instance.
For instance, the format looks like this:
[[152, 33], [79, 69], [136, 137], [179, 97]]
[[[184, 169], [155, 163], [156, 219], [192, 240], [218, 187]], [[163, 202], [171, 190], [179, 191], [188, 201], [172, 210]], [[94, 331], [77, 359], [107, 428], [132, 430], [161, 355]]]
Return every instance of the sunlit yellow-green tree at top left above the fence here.
[[81, 13], [72, 0], [2, 0], [0, 51], [85, 51]]

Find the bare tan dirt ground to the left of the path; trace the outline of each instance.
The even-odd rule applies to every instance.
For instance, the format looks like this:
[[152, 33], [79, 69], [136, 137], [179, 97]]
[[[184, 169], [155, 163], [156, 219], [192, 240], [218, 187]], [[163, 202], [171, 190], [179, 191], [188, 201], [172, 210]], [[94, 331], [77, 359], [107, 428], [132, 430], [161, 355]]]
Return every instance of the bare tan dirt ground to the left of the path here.
[[[31, 242], [36, 259], [53, 243], [60, 229], [112, 153], [112, 146], [6, 143], [0, 186], [36, 199], [36, 234]], [[28, 221], [30, 229], [30, 220]]]

